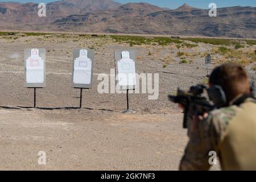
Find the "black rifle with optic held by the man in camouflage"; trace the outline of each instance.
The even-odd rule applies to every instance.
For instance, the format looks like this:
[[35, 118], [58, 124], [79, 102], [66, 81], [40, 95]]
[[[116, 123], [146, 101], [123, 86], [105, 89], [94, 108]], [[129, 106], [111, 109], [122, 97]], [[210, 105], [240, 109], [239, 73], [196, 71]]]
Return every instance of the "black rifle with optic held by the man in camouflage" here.
[[207, 98], [202, 96], [205, 89], [207, 89], [205, 85], [199, 84], [191, 86], [189, 91], [183, 91], [178, 88], [176, 96], [168, 96], [170, 101], [179, 103], [184, 107], [184, 129], [189, 127], [189, 121], [195, 113], [203, 115], [214, 109], [214, 106], [208, 102]]

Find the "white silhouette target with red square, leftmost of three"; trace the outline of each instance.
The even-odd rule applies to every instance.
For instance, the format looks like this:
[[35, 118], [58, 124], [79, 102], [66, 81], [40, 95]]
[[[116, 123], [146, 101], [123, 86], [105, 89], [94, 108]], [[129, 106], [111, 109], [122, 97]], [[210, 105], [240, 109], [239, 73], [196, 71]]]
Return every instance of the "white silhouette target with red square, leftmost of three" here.
[[31, 49], [31, 56], [26, 59], [27, 84], [42, 84], [44, 82], [44, 59], [39, 56], [39, 49]]

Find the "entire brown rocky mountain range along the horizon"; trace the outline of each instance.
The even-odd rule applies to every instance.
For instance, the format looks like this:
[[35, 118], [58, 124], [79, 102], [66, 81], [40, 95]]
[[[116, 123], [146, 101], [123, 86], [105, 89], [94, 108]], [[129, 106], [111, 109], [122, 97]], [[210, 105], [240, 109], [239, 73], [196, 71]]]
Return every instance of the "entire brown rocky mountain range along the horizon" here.
[[46, 5], [38, 16], [36, 3], [0, 3], [0, 29], [76, 31], [256, 38], [256, 7], [223, 7], [217, 17], [187, 4], [171, 10], [149, 3], [112, 0], [62, 0]]

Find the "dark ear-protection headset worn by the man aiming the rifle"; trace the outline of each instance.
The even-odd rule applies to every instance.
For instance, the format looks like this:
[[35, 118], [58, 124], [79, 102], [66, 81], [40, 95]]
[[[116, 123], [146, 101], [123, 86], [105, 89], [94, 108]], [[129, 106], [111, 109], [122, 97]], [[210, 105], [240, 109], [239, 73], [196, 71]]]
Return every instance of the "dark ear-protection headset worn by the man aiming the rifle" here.
[[[251, 82], [250, 91], [251, 94], [249, 96], [246, 96], [244, 100], [248, 97], [254, 98], [255, 91], [253, 81]], [[228, 104], [226, 100], [226, 94], [220, 85], [213, 85], [211, 88], [208, 88], [207, 93], [210, 100], [213, 101], [214, 106], [216, 106], [217, 108], [223, 107]]]

